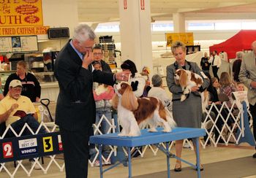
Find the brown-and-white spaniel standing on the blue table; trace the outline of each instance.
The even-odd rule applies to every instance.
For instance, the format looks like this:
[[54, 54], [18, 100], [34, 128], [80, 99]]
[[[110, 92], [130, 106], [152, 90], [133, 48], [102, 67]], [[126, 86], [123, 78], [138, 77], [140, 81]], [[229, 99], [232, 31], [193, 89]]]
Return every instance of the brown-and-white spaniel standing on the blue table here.
[[176, 123], [159, 99], [154, 97], [137, 98], [127, 82], [114, 85], [116, 91], [112, 104], [117, 109], [118, 120], [123, 128], [118, 136], [140, 136], [140, 128], [148, 124], [148, 131], [157, 131], [158, 125], [164, 132], [172, 131]]

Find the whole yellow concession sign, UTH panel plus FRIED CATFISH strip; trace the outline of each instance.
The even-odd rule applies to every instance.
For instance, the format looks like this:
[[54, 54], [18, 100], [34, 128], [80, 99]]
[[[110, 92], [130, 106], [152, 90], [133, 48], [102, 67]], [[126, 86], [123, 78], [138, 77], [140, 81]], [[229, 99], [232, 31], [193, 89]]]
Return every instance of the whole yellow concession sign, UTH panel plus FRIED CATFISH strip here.
[[0, 0], [0, 36], [47, 34], [42, 0]]

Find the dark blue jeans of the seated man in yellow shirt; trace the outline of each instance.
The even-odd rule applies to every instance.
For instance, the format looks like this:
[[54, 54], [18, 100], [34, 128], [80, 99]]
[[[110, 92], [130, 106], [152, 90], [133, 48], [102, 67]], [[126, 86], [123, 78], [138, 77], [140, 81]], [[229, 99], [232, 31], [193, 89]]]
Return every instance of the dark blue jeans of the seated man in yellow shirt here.
[[[25, 117], [21, 117], [20, 120], [16, 120], [14, 123], [12, 123], [11, 126], [13, 130], [15, 130], [17, 134], [19, 134], [23, 126], [25, 125], [25, 123], [29, 125], [29, 127], [31, 128], [32, 131], [34, 131], [34, 133], [37, 131], [37, 128], [39, 127], [39, 123], [32, 115], [26, 115]], [[8, 133], [8, 136], [10, 137], [15, 136], [15, 134], [12, 133], [11, 130], [8, 130], [7, 133]], [[41, 127], [38, 133], [46, 133], [45, 128]], [[27, 136], [31, 134], [32, 134], [31, 131], [29, 131], [29, 129], [26, 128], [21, 134], [21, 136]]]

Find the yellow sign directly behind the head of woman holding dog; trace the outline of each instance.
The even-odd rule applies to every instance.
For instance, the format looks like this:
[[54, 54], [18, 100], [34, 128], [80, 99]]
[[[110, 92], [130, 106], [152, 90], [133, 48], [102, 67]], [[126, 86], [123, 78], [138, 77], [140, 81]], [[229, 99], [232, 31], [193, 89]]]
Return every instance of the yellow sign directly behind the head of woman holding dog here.
[[166, 38], [166, 46], [171, 47], [173, 42], [180, 41], [184, 42], [186, 46], [188, 45], [194, 45], [194, 36], [193, 33], [170, 33], [165, 34]]

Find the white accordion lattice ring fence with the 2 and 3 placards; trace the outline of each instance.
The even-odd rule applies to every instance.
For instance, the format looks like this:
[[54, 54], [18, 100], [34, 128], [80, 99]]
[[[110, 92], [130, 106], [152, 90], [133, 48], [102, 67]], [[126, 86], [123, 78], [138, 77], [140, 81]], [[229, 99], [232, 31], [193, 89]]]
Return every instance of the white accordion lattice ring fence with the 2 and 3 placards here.
[[[228, 111], [228, 113], [226, 117], [223, 117], [222, 109], [225, 108]], [[218, 112], [218, 115], [216, 115], [214, 118], [211, 115], [211, 111], [213, 109], [216, 109]], [[234, 112], [235, 110], [236, 112]], [[41, 117], [40, 120], [44, 120], [45, 116], [48, 117], [48, 111], [46, 109], [39, 108], [39, 112]], [[249, 107], [246, 106], [246, 104], [244, 104], [244, 109], [243, 107], [236, 107], [235, 101], [233, 102], [232, 107], [230, 108], [227, 107], [227, 104], [225, 102], [222, 104], [221, 107], [217, 107], [215, 104], [211, 104], [206, 113], [206, 118], [202, 123], [202, 125], [206, 125], [206, 123], [211, 123], [211, 128], [205, 129], [206, 140], [203, 141], [203, 139], [200, 139], [200, 144], [203, 146], [203, 148], [206, 148], [207, 142], [211, 142], [211, 144], [214, 145], [214, 147], [217, 147], [219, 140], [222, 139], [225, 145], [230, 144], [230, 141], [232, 141], [235, 144], [239, 144], [240, 142], [248, 142], [251, 145], [255, 145], [252, 132], [250, 131], [249, 123], [246, 123], [246, 121], [248, 121], [248, 117], [251, 118], [252, 116], [250, 115]], [[228, 125], [228, 119], [233, 120], [233, 125]], [[114, 115], [114, 119], [110, 121], [105, 117], [105, 115], [103, 115], [99, 120], [99, 123], [97, 125], [94, 124], [94, 135], [102, 134], [99, 127], [103, 120], [105, 120], [106, 123], [110, 125], [108, 133], [116, 133], [116, 131], [118, 131], [118, 126], [116, 126], [118, 125], [116, 115]], [[222, 128], [217, 127], [217, 120], [223, 121]], [[247, 127], [246, 124], [248, 125]], [[37, 134], [40, 127], [45, 127], [48, 133]], [[28, 128], [31, 131], [31, 136], [21, 136], [25, 128]], [[4, 134], [0, 136], [0, 177], [2, 171], [6, 171], [10, 177], [15, 177], [15, 174], [17, 173], [18, 169], [22, 169], [23, 171], [26, 172], [28, 176], [30, 176], [32, 174], [32, 171], [34, 170], [34, 166], [29, 166], [29, 168], [27, 168], [28, 166], [26, 166], [26, 163], [24, 162], [26, 162], [25, 160], [28, 158], [36, 158], [35, 164], [38, 164], [45, 174], [47, 174], [48, 170], [50, 169], [50, 166], [53, 164], [58, 166], [60, 171], [64, 170], [64, 161], [59, 163], [56, 159], [56, 155], [62, 153], [61, 136], [59, 135], [59, 132], [57, 132], [57, 125], [54, 125], [54, 123], [40, 123], [39, 128], [36, 133], [33, 133], [33, 131], [29, 128], [29, 125], [24, 125], [20, 133], [15, 133], [15, 138], [4, 139], [4, 136], [6, 135], [7, 131], [12, 130], [12, 132], [14, 132], [10, 125], [7, 126], [6, 130], [4, 131]], [[214, 134], [216, 132], [219, 133], [219, 136], [217, 138], [215, 138]], [[189, 147], [192, 150], [194, 149], [192, 142], [189, 142], [188, 139], [184, 139], [184, 144], [185, 143], [189, 144]], [[167, 149], [170, 152], [170, 149], [173, 147], [174, 143], [171, 142], [171, 144], [168, 145], [168, 147], [166, 147], [165, 143], [159, 144], [162, 145], [161, 147], [163, 147], [163, 149]], [[118, 152], [120, 150], [124, 154], [123, 157], [129, 155], [129, 151], [126, 147], [117, 147], [113, 145], [108, 145], [108, 147], [110, 148], [110, 153], [108, 157], [105, 158], [103, 155], [101, 157], [104, 161], [108, 161], [110, 159], [112, 160], [112, 158], [118, 157]], [[143, 149], [141, 151], [138, 150], [141, 157], [144, 156], [148, 148], [149, 150], [151, 150], [153, 155], [157, 155], [157, 152], [160, 150], [159, 146], [156, 146], [155, 144], [145, 145], [143, 146]], [[95, 147], [95, 150], [97, 151], [97, 154], [94, 155], [94, 158], [89, 160], [89, 164], [91, 166], [94, 166], [95, 160], [97, 160], [97, 158], [99, 157], [99, 149]], [[136, 150], [136, 148], [131, 147], [130, 151], [132, 152], [133, 150]], [[45, 163], [45, 165], [41, 165], [38, 159], [39, 157], [42, 157], [44, 155], [50, 156], [50, 161], [49, 163]], [[7, 162], [12, 162], [14, 160], [18, 160], [18, 165], [16, 166], [16, 168], [8, 168], [8, 166], [6, 166]]]

